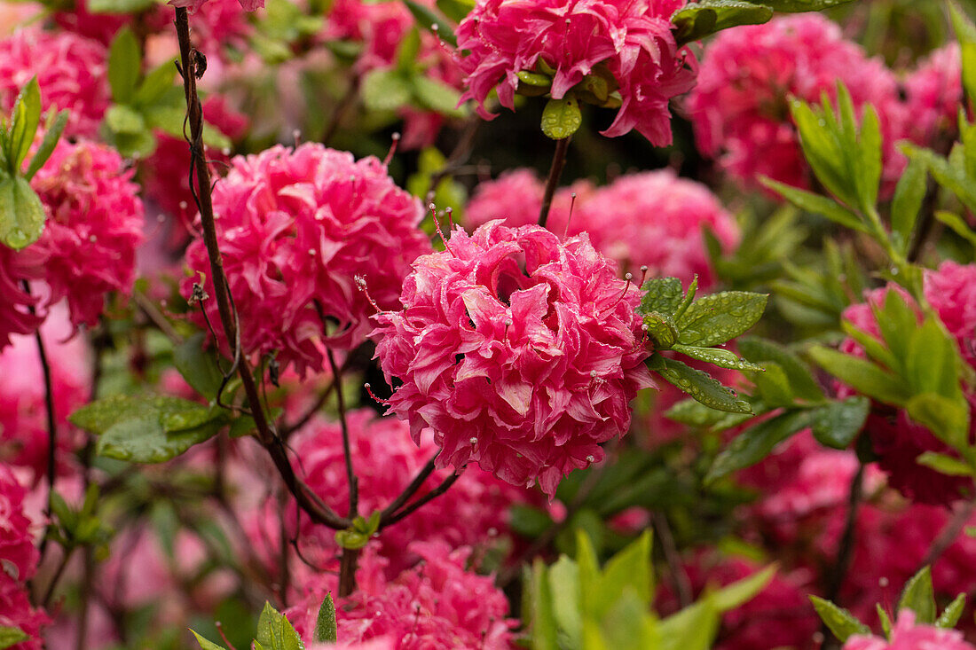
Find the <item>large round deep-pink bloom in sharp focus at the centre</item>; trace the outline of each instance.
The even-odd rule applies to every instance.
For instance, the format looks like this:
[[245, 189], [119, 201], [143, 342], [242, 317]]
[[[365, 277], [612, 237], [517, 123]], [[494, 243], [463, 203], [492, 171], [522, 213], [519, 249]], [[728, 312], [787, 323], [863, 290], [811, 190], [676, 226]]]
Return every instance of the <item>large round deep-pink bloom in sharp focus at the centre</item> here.
[[438, 467], [474, 462], [551, 496], [627, 432], [652, 385], [639, 292], [585, 235], [490, 222], [457, 228], [447, 249], [415, 262], [402, 310], [376, 316], [386, 381], [403, 383], [390, 410], [415, 441], [433, 429]]

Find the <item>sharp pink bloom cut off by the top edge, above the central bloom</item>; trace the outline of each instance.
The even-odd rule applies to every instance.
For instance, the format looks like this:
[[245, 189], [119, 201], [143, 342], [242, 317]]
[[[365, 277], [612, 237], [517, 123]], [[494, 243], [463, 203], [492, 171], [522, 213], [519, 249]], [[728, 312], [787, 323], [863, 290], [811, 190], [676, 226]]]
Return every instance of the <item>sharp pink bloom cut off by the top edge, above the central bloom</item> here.
[[554, 69], [551, 97], [567, 96], [600, 66], [616, 81], [622, 98], [617, 118], [603, 131], [623, 136], [631, 129], [655, 145], [671, 143], [671, 98], [688, 92], [697, 62], [678, 48], [671, 15], [683, 0], [478, 0], [458, 25], [458, 62], [467, 75], [463, 99], [485, 100], [497, 87], [503, 106], [514, 110], [518, 73], [545, 63]]

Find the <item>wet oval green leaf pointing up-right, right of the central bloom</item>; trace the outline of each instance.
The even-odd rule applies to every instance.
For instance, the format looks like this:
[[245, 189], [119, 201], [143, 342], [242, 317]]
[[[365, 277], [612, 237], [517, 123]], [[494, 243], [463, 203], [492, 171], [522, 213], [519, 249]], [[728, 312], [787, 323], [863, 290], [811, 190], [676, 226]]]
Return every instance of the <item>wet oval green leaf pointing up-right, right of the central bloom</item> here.
[[708, 347], [743, 334], [762, 317], [768, 294], [724, 291], [692, 303], [677, 318], [678, 342]]

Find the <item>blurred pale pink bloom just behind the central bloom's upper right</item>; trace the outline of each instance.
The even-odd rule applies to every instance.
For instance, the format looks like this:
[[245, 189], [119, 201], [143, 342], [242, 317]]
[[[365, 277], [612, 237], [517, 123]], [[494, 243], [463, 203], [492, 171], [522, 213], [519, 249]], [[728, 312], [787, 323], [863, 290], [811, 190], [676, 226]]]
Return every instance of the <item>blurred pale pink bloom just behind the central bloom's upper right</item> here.
[[671, 170], [622, 176], [577, 207], [570, 230], [590, 233], [593, 248], [634, 277], [646, 264], [650, 277], [685, 285], [697, 274], [707, 290], [715, 277], [703, 231], [710, 229], [726, 251], [739, 243], [739, 226], [712, 191]]

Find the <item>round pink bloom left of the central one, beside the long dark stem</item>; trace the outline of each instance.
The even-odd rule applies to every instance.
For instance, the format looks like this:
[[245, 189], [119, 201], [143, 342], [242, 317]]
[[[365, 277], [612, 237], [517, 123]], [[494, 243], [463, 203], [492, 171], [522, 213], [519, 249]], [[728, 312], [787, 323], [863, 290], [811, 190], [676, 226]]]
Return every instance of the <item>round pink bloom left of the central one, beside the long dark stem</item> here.
[[[381, 307], [393, 306], [409, 264], [430, 250], [421, 204], [376, 158], [356, 161], [321, 144], [274, 146], [230, 166], [214, 188], [214, 214], [243, 351], [276, 350], [282, 367], [319, 371], [326, 345], [354, 347], [370, 329], [374, 307], [357, 278]], [[186, 262], [193, 274], [183, 295], [202, 273], [213, 296], [202, 240]], [[213, 298], [204, 308], [220, 322]], [[194, 318], [203, 324], [199, 311]]]

